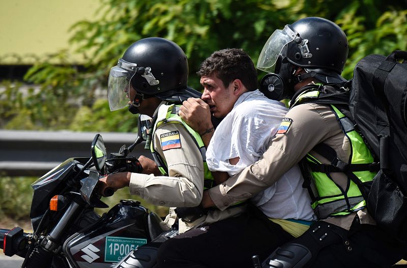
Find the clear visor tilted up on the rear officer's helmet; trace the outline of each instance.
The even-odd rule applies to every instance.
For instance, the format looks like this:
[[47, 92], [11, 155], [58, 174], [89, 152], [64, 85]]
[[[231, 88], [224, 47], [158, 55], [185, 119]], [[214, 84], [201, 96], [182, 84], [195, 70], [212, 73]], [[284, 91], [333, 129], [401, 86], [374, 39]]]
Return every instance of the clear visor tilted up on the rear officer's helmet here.
[[275, 30], [261, 50], [257, 60], [257, 69], [267, 73], [274, 73], [279, 55], [286, 56], [287, 44], [294, 41], [297, 33], [288, 25], [282, 30]]

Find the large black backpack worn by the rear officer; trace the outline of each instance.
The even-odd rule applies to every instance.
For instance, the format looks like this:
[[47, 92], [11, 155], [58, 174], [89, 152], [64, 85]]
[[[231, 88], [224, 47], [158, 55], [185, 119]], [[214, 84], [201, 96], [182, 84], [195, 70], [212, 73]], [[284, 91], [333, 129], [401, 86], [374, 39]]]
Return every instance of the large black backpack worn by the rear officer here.
[[[399, 63], [398, 59], [404, 59]], [[377, 224], [407, 241], [407, 51], [369, 55], [355, 66], [349, 109], [380, 160], [366, 198]]]

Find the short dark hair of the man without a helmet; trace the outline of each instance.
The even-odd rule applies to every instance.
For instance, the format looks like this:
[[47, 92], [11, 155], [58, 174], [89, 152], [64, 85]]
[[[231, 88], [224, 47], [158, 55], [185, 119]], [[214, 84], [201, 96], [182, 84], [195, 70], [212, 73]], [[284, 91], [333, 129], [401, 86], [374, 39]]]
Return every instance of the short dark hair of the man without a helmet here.
[[227, 48], [215, 51], [200, 64], [197, 74], [202, 77], [216, 75], [227, 87], [240, 79], [249, 91], [257, 89], [257, 73], [253, 61], [243, 49]]

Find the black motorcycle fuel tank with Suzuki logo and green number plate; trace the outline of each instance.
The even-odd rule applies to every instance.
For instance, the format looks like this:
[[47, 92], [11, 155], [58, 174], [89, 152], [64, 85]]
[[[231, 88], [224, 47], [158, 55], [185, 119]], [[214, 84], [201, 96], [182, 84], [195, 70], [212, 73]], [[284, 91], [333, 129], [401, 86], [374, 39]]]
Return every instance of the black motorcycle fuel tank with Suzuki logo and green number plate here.
[[63, 246], [72, 267], [111, 267], [131, 250], [151, 241], [147, 209], [121, 200], [97, 222], [70, 237]]

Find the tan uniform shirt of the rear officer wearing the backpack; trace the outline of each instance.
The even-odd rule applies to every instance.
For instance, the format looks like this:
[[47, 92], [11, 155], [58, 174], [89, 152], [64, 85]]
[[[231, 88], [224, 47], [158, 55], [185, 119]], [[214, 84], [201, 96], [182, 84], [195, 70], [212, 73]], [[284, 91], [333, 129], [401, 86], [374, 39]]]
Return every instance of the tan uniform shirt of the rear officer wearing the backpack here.
[[[224, 210], [271, 186], [318, 143], [331, 146], [340, 160], [348, 162], [351, 145], [328, 106], [301, 104], [290, 109], [285, 118], [292, 120], [288, 129], [285, 133], [276, 134], [262, 158], [240, 174], [209, 190], [209, 195], [219, 209]], [[322, 156], [316, 153], [313, 155], [321, 163], [330, 164]], [[344, 174], [331, 173], [331, 176], [340, 185], [346, 185]], [[326, 221], [348, 229], [356, 213], [362, 223], [374, 223], [366, 209], [345, 217], [328, 218]]]

